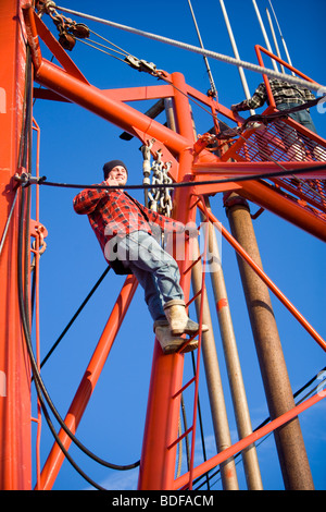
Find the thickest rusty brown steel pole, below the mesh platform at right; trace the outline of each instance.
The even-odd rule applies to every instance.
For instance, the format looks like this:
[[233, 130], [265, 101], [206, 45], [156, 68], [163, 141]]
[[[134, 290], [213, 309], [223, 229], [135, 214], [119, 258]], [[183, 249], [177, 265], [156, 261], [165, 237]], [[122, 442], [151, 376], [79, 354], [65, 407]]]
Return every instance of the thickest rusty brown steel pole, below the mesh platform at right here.
[[[226, 211], [234, 237], [262, 268], [248, 203], [233, 194], [226, 200]], [[294, 407], [293, 394], [268, 289], [242, 258], [238, 255], [237, 258], [268, 410], [271, 418], [274, 419]], [[274, 436], [285, 488], [287, 490], [313, 489], [298, 417], [275, 430]]]

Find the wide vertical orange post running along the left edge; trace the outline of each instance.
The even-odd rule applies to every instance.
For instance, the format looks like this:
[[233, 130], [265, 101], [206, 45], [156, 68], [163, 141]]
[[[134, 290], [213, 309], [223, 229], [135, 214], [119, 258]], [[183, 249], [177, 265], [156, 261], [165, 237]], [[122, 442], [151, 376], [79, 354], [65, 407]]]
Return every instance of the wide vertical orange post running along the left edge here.
[[[20, 137], [24, 117], [26, 46], [18, 0], [0, 2], [0, 236], [15, 199]], [[29, 490], [30, 369], [17, 295], [20, 195], [0, 255], [0, 489]]]

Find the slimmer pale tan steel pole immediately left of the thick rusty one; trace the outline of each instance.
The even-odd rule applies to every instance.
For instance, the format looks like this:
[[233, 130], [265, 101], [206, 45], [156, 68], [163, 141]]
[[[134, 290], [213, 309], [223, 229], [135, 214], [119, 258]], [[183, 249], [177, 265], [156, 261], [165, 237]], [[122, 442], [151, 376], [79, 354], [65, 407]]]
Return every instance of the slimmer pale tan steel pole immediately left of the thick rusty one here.
[[[211, 210], [209, 198], [205, 199], [205, 204], [208, 210]], [[218, 243], [216, 240], [214, 225], [212, 223], [210, 223], [209, 249], [210, 255], [214, 258], [213, 265], [215, 265], [216, 267], [211, 272], [211, 280], [216, 304], [216, 312], [218, 317], [220, 331], [223, 342], [233, 403], [236, 414], [237, 428], [239, 437], [240, 439], [242, 439], [252, 432], [252, 426], [247, 402], [244, 383], [242, 379], [241, 364], [239, 359], [233, 319], [224, 280], [222, 256], [218, 249]], [[242, 460], [248, 489], [262, 490], [263, 484], [254, 444], [251, 444], [246, 450], [243, 450]]]

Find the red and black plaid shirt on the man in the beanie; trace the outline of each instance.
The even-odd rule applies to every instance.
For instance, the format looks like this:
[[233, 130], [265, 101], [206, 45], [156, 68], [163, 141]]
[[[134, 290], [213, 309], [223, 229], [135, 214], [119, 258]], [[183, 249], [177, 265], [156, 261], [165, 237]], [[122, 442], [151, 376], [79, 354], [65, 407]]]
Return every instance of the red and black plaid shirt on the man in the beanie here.
[[105, 244], [115, 235], [125, 236], [133, 231], [140, 230], [152, 234], [149, 222], [154, 222], [166, 231], [183, 232], [185, 230], [181, 222], [146, 208], [118, 188], [110, 191], [85, 188], [74, 198], [74, 209], [79, 215], [88, 215], [90, 225], [103, 253]]

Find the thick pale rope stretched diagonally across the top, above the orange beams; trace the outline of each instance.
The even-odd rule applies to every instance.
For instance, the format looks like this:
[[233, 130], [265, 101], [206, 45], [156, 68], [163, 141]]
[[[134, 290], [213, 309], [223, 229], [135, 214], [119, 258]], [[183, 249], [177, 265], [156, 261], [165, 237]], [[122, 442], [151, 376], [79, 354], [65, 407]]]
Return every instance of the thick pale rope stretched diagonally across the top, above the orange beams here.
[[[274, 71], [274, 70], [269, 70], [268, 68], [260, 66], [258, 64], [252, 64], [251, 62], [242, 61], [242, 60], [236, 59], [234, 57], [224, 56], [222, 53], [217, 53], [216, 51], [206, 50], [205, 48], [199, 48], [197, 46], [189, 45], [187, 42], [181, 42], [181, 41], [178, 41], [178, 40], [175, 40], [175, 39], [170, 39], [168, 37], [163, 37], [163, 36], [156, 35], [156, 34], [140, 31], [139, 28], [133, 28], [133, 27], [129, 27], [127, 25], [122, 25], [121, 23], [115, 23], [115, 22], [111, 22], [109, 20], [103, 20], [101, 17], [92, 16], [90, 14], [85, 14], [85, 13], [82, 13], [82, 12], [78, 12], [78, 11], [73, 11], [72, 9], [66, 9], [66, 8], [59, 7], [59, 5], [55, 5], [55, 9], [58, 9], [59, 11], [67, 12], [67, 13], [73, 14], [75, 16], [85, 17], [86, 20], [102, 23], [103, 25], [109, 25], [109, 26], [112, 26], [114, 28], [120, 28], [122, 31], [129, 32], [131, 34], [136, 34], [136, 35], [139, 35], [139, 36], [147, 37], [149, 39], [153, 39], [153, 40], [156, 40], [156, 41], [160, 41], [160, 42], [164, 42], [166, 45], [172, 45], [172, 46], [175, 46], [177, 48], [181, 48], [184, 50], [193, 51], [195, 53], [200, 53], [200, 54], [205, 56], [205, 57], [211, 57], [212, 59], [216, 59], [218, 61], [226, 62], [228, 64], [234, 64], [238, 68], [241, 66], [241, 68], [244, 68], [249, 71], [254, 71], [254, 72], [260, 73], [260, 74], [263, 73], [263, 74], [265, 74], [267, 76], [271, 76], [273, 78], [284, 80], [284, 74], [283, 73], [279, 73], [279, 72]], [[291, 84], [299, 85], [301, 87], [308, 87], [309, 89], [315, 90], [315, 92], [318, 92], [318, 93], [321, 93], [321, 92], [326, 93], [326, 86], [324, 86], [324, 85], [322, 86], [321, 84], [317, 84], [317, 83], [314, 83], [314, 82], [309, 82], [306, 80], [299, 78], [297, 76], [287, 75], [287, 82], [289, 82]]]

